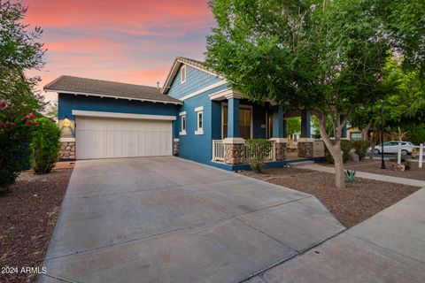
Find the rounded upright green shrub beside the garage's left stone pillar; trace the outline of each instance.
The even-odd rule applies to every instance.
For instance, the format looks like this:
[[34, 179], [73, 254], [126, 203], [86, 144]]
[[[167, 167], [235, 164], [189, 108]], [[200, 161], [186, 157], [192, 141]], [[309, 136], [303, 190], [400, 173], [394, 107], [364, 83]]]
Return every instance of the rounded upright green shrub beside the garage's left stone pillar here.
[[32, 165], [35, 173], [46, 174], [53, 169], [59, 157], [60, 130], [50, 119], [37, 119], [32, 141]]

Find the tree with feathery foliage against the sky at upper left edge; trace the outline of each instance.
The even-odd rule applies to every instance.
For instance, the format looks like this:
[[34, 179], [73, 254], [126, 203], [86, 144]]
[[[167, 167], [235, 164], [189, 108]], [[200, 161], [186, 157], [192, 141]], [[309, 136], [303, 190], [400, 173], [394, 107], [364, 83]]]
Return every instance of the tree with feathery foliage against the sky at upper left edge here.
[[40, 79], [24, 72], [41, 68], [45, 52], [37, 42], [42, 29], [29, 30], [20, 22], [26, 11], [20, 1], [0, 1], [0, 101], [21, 113], [42, 108], [42, 96], [35, 91]]

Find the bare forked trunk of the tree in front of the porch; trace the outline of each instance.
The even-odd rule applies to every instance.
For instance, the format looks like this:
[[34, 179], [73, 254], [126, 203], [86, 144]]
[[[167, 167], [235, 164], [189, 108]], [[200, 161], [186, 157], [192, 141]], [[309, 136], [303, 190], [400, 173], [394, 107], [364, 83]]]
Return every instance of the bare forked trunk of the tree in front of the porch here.
[[335, 144], [330, 141], [329, 135], [326, 132], [326, 114], [319, 112], [319, 131], [321, 138], [329, 150], [330, 155], [334, 158], [335, 165], [335, 187], [345, 188], [344, 178], [344, 161], [343, 152], [341, 151], [341, 130], [342, 124], [340, 123], [339, 115], [336, 119], [336, 131], [334, 130]]

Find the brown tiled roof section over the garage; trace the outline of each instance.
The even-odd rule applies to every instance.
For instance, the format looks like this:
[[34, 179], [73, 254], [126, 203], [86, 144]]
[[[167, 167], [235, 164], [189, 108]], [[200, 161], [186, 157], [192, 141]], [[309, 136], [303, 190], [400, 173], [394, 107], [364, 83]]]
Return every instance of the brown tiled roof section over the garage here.
[[46, 91], [75, 95], [113, 97], [154, 103], [182, 104], [178, 99], [161, 94], [159, 88], [109, 80], [93, 80], [73, 76], [60, 76], [43, 88]]

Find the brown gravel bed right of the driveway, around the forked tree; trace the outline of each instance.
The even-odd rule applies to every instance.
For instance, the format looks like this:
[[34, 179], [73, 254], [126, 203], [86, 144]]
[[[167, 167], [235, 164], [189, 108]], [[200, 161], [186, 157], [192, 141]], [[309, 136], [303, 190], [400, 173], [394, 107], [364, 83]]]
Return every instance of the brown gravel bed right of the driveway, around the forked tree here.
[[259, 180], [316, 196], [345, 226], [351, 227], [397, 203], [420, 187], [356, 178], [345, 189], [334, 186], [334, 174], [299, 168], [277, 168], [258, 174], [241, 172]]

